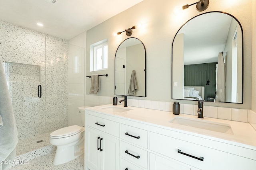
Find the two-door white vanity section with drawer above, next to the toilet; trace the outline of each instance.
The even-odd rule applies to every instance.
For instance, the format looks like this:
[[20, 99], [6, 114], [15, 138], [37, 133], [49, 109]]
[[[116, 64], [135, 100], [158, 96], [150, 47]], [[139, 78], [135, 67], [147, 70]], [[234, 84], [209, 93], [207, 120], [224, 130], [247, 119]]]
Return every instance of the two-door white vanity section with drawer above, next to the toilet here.
[[[113, 135], [119, 135], [119, 123], [92, 115], [87, 115], [87, 119], [85, 135], [87, 168], [90, 170], [119, 170], [120, 141], [113, 137]], [[116, 128], [113, 128], [115, 125], [117, 125]], [[104, 129], [104, 127], [106, 128]]]

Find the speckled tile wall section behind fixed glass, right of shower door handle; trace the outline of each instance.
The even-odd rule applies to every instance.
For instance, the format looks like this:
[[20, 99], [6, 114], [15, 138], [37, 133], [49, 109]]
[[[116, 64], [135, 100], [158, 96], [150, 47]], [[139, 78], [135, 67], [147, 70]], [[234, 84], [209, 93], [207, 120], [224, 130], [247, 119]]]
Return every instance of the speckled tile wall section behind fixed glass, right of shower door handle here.
[[68, 125], [68, 42], [46, 37], [46, 132]]

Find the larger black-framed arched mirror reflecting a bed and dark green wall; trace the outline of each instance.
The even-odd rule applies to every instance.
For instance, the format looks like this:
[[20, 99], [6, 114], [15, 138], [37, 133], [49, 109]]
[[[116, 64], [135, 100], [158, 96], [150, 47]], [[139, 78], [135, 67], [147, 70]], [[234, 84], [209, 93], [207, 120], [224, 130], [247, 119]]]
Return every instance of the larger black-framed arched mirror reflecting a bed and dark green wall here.
[[234, 16], [208, 12], [178, 30], [172, 99], [243, 103], [243, 31]]

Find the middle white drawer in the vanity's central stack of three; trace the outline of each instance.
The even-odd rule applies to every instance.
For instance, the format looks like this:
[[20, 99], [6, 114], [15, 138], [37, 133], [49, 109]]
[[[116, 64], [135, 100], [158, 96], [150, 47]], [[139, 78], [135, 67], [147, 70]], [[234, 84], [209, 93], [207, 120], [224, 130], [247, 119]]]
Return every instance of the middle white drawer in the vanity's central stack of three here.
[[121, 156], [147, 169], [148, 152], [125, 142], [121, 142]]

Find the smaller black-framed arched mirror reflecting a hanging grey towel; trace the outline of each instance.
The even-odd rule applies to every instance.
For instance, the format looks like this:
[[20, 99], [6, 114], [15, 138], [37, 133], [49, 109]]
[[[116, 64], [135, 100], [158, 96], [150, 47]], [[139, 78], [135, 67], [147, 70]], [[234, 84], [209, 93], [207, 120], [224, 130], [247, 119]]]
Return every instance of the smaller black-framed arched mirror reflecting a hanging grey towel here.
[[146, 48], [137, 38], [124, 40], [116, 50], [115, 95], [146, 97]]

